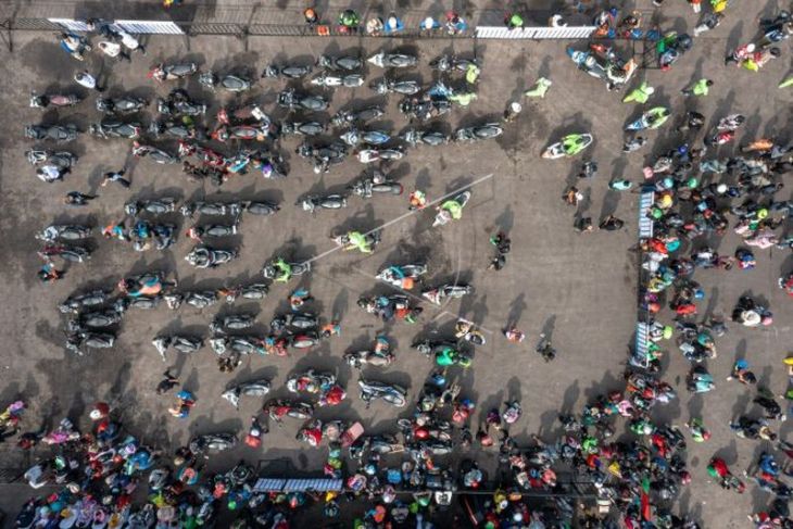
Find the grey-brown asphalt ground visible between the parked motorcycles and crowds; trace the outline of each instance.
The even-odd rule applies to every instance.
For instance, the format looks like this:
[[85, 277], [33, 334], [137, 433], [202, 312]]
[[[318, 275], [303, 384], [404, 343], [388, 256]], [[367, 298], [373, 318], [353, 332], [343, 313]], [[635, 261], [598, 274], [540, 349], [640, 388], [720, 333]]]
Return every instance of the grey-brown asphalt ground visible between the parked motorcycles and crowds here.
[[[649, 3], [649, 2], [647, 2]], [[772, 10], [771, 8], [764, 8]], [[742, 8], [747, 9], [747, 8]], [[662, 27], [691, 28], [694, 15], [680, 10], [667, 15]], [[678, 14], [680, 16], [678, 16]], [[656, 93], [651, 103], [670, 105], [678, 114], [697, 109], [708, 123], [721, 115], [740, 112], [748, 116], [742, 129], [744, 138], [759, 135], [780, 135], [790, 138], [790, 91], [777, 90], [777, 84], [789, 70], [789, 45], [785, 54], [759, 74], [725, 67], [722, 55], [738, 42], [755, 35], [754, 13], [739, 20], [729, 13], [719, 28], [696, 39], [694, 48], [671, 72], [649, 70], [646, 76]], [[380, 332], [387, 332], [395, 343], [396, 362], [386, 370], [364, 369], [366, 378], [400, 383], [408, 388], [415, 399], [425, 377], [430, 373], [429, 362], [410, 349], [416, 336], [445, 337], [456, 316], [473, 319], [484, 329], [488, 343], [476, 351], [474, 366], [454, 371], [463, 386], [463, 394], [476, 400], [478, 414], [483, 419], [488, 410], [503, 400], [520, 399], [525, 414], [512, 433], [519, 442], [539, 432], [545, 440], [557, 432], [554, 419], [559, 411], [578, 411], [589, 399], [611, 389], [620, 388], [621, 373], [632, 342], [635, 322], [637, 202], [633, 193], [607, 190], [611, 177], [627, 177], [638, 181], [641, 167], [664, 152], [680, 138], [672, 126], [651, 131], [653, 146], [630, 156], [620, 152], [621, 129], [638, 116], [639, 109], [619, 102], [621, 93], [609, 93], [595, 79], [577, 72], [565, 55], [564, 42], [448, 41], [402, 42], [382, 40], [323, 40], [305, 38], [267, 39], [251, 37], [247, 41], [222, 37], [193, 37], [189, 41], [178, 37], [148, 38], [146, 56], [135, 55], [131, 64], [113, 63], [92, 53], [86, 63], [66, 56], [49, 34], [13, 36], [15, 51], [0, 56], [0, 72], [4, 79], [3, 92], [10, 97], [0, 100], [5, 116], [7, 133], [0, 136], [0, 237], [5, 250], [4, 266], [0, 268], [0, 285], [5, 302], [0, 306], [0, 337], [5, 347], [0, 355], [7, 373], [0, 401], [9, 402], [22, 395], [30, 404], [25, 426], [38, 427], [42, 421], [56, 421], [68, 416], [84, 427], [88, 425], [87, 411], [92, 402], [106, 400], [123, 411], [130, 431], [138, 432], [146, 442], [173, 450], [194, 433], [221, 430], [247, 430], [250, 416], [261, 410], [261, 402], [243, 401], [235, 411], [219, 399], [223, 390], [235, 382], [252, 378], [273, 379], [272, 396], [287, 396], [282, 387], [290, 374], [309, 367], [335, 370], [347, 385], [349, 398], [342, 405], [319, 410], [323, 419], [344, 418], [361, 420], [367, 432], [393, 429], [394, 419], [406, 416], [407, 408], [395, 410], [375, 403], [366, 410], [355, 391], [358, 374], [342, 362], [347, 350], [370, 344]], [[355, 52], [363, 48], [372, 53], [386, 47], [416, 51], [421, 67], [404, 75], [429, 83], [429, 60], [442, 52], [476, 54], [483, 68], [479, 80], [479, 99], [468, 109], [455, 109], [442, 121], [449, 129], [498, 118], [506, 104], [518, 98], [538, 76], [552, 79], [553, 86], [544, 100], [524, 100], [519, 118], [506, 125], [506, 133], [495, 141], [471, 146], [445, 146], [411, 150], [401, 162], [388, 166], [405, 190], [416, 186], [425, 189], [432, 200], [470, 182], [471, 202], [462, 221], [443, 228], [431, 228], [432, 213], [404, 216], [383, 230], [381, 245], [370, 256], [332, 252], [313, 263], [313, 273], [302, 282], [292, 281], [288, 288], [274, 285], [262, 303], [238, 303], [234, 307], [217, 304], [198, 311], [182, 307], [172, 312], [164, 305], [153, 311], [131, 310], [124, 319], [117, 345], [110, 351], [98, 351], [76, 357], [63, 350], [63, 319], [55, 304], [74, 291], [89, 287], [113, 286], [118, 278], [144, 270], [164, 270], [178, 278], [180, 288], [204, 289], [260, 280], [263, 263], [275, 254], [305, 260], [324, 254], [333, 248], [331, 231], [341, 229], [372, 229], [407, 213], [406, 194], [376, 197], [363, 201], [350, 199], [350, 206], [338, 212], [320, 212], [315, 217], [294, 206], [306, 192], [342, 190], [357, 178], [364, 166], [348, 160], [329, 174], [317, 176], [305, 161], [293, 155], [299, 139], [282, 142], [281, 152], [288, 158], [291, 172], [286, 180], [265, 180], [260, 175], [236, 177], [219, 190], [187, 180], [179, 166], [162, 166], [150, 160], [135, 160], [126, 140], [101, 141], [83, 135], [65, 147], [79, 155], [79, 162], [64, 182], [45, 185], [34, 175], [24, 159], [32, 142], [23, 139], [25, 124], [72, 122], [87, 129], [100, 115], [93, 109], [95, 95], [75, 87], [71, 77], [88, 67], [99, 73], [111, 96], [131, 92], [154, 100], [179, 84], [155, 85], [146, 78], [150, 65], [161, 61], [194, 61], [201, 68], [218, 73], [261, 73], [273, 62], [311, 61], [322, 53]], [[452, 49], [453, 47], [453, 49]], [[381, 71], [369, 68], [367, 83], [379, 77]], [[689, 81], [706, 76], [715, 80], [707, 98], [683, 98], [679, 90]], [[265, 110], [280, 117], [275, 109], [275, 96], [282, 81], [262, 80], [247, 96], [213, 95], [202, 89], [194, 79], [182, 84], [199, 100], [212, 103], [207, 115], [214, 115], [219, 104], [255, 100]], [[41, 112], [27, 106], [27, 95], [68, 88], [88, 96], [83, 104], [65, 111]], [[401, 130], [407, 125], [396, 112], [399, 98], [383, 99], [368, 88], [338, 89], [326, 92], [332, 97], [331, 112], [351, 104], [361, 106], [387, 102], [389, 112], [379, 125]], [[143, 116], [148, 123], [154, 109]], [[626, 221], [626, 229], [618, 232], [580, 235], [574, 231], [575, 210], [565, 205], [561, 194], [575, 180], [581, 160], [544, 161], [539, 154], [551, 141], [567, 133], [591, 131], [595, 144], [581, 160], [597, 161], [600, 173], [592, 181], [579, 182], [588, 199], [579, 206], [580, 213], [599, 218], [614, 213]], [[171, 152], [171, 143], [162, 143]], [[49, 146], [52, 148], [52, 146]], [[722, 148], [728, 155], [730, 148]], [[101, 175], [122, 166], [133, 180], [130, 190], [111, 185], [100, 188]], [[492, 175], [492, 176], [490, 176]], [[70, 190], [97, 191], [100, 198], [90, 207], [67, 210], [60, 197]], [[789, 193], [789, 191], [783, 190]], [[39, 247], [33, 238], [35, 230], [52, 223], [90, 223], [101, 227], [123, 217], [123, 203], [131, 198], [177, 196], [182, 200], [266, 199], [281, 204], [281, 211], [272, 217], [246, 216], [240, 235], [227, 244], [237, 247], [240, 259], [215, 270], [194, 270], [182, 259], [192, 248], [192, 241], [180, 236], [175, 247], [165, 252], [135, 252], [117, 241], [97, 239], [97, 251], [87, 264], [71, 266], [66, 278], [54, 285], [42, 286], [36, 279], [40, 260]], [[180, 234], [191, 226], [178, 215], [166, 216], [168, 222], [180, 223]], [[513, 240], [513, 250], [505, 269], [487, 270], [491, 253], [488, 238], [498, 230], [506, 230]], [[731, 253], [737, 239], [730, 235], [718, 241], [718, 250]], [[785, 374], [780, 363], [793, 338], [790, 327], [789, 300], [776, 287], [780, 270], [788, 272], [791, 261], [786, 252], [772, 250], [757, 252], [757, 268], [742, 273], [697, 272], [695, 279], [706, 287], [706, 310], [729, 314], [738, 297], [751, 290], [765, 298], [775, 312], [775, 325], [764, 329], [731, 328], [717, 342], [719, 357], [708, 366], [717, 380], [717, 389], [704, 398], [690, 399], [684, 389], [688, 363], [676, 352], [665, 361], [665, 377], [680, 393], [680, 401], [660, 410], [659, 415], [682, 425], [690, 416], [701, 414], [713, 431], [705, 444], [690, 443], [689, 463], [693, 483], [680, 497], [679, 511], [702, 519], [705, 527], [743, 527], [745, 514], [760, 508], [770, 497], [759, 492], [737, 496], [725, 492], [709, 479], [705, 465], [714, 453], [720, 453], [735, 468], [745, 468], [759, 445], [735, 438], [728, 421], [751, 406], [750, 391], [738, 382], [726, 382], [733, 360], [745, 355], [763, 383], [775, 393], [784, 391]], [[387, 292], [377, 285], [374, 275], [387, 263], [406, 263], [424, 260], [429, 264], [429, 285], [458, 279], [475, 286], [473, 297], [441, 308], [425, 304], [425, 313], [417, 325], [396, 324], [383, 327], [374, 317], [364, 314], [355, 301], [361, 293]], [[209, 336], [206, 325], [216, 314], [235, 311], [256, 312], [256, 330], [264, 332], [275, 313], [288, 310], [289, 289], [301, 285], [310, 288], [316, 299], [311, 308], [326, 320], [340, 318], [341, 337], [323, 342], [307, 353], [292, 353], [289, 357], [248, 357], [234, 374], [222, 374], [215, 364], [215, 354], [209, 348], [190, 356], [171, 353], [164, 364], [151, 345], [151, 339], [163, 331], [184, 331]], [[668, 317], [667, 317], [668, 319]], [[508, 343], [501, 329], [515, 323], [528, 337], [523, 344]], [[552, 336], [558, 350], [557, 360], [545, 363], [534, 352], [541, 331]], [[173, 394], [158, 396], [154, 388], [166, 366], [175, 366], [182, 387], [197, 394], [190, 417], [179, 420], [171, 417], [167, 407]], [[757, 413], [757, 410], [754, 411]], [[693, 415], [692, 415], [693, 414]], [[251, 462], [290, 458], [301, 470], [319, 469], [326, 450], [305, 449], [294, 440], [300, 428], [288, 423], [284, 428], [273, 426], [261, 451], [243, 445], [222, 458], [213, 459], [218, 467], [244, 457]], [[785, 431], [785, 428], [782, 428]], [[43, 452], [41, 452], [43, 454]], [[494, 454], [471, 454], [483, 462], [493, 462]], [[23, 466], [18, 454], [3, 448], [2, 466]], [[13, 491], [24, 489], [14, 488]], [[11, 492], [10, 501], [27, 497], [29, 491]]]

